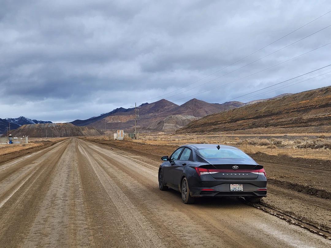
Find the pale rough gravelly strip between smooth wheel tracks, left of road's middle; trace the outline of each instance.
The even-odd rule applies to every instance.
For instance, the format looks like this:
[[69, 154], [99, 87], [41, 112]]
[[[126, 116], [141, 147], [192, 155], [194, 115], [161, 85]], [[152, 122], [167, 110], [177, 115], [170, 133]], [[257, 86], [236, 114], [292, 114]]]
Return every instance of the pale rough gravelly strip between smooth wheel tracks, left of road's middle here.
[[92, 233], [86, 218], [78, 174], [75, 142], [71, 140], [52, 173], [38, 214], [25, 237], [25, 247], [89, 247]]

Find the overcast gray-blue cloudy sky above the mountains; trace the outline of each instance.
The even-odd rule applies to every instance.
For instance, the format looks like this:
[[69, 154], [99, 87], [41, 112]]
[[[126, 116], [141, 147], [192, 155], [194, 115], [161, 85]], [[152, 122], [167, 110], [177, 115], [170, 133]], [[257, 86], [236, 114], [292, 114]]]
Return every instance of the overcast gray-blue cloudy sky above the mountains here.
[[[330, 1], [1, 0], [0, 118], [65, 122], [162, 98], [222, 103], [331, 64], [330, 44], [246, 77], [331, 42], [329, 27], [229, 73], [330, 25], [329, 13], [193, 83], [330, 10]], [[253, 99], [328, 86], [330, 78]]]

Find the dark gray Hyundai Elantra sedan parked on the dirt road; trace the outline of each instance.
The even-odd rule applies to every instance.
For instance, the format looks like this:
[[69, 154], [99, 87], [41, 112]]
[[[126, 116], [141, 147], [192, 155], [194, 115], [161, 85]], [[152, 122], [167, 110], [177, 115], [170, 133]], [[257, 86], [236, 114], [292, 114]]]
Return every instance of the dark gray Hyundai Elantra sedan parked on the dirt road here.
[[160, 189], [181, 192], [184, 203], [206, 196], [243, 196], [258, 203], [267, 194], [263, 166], [233, 146], [182, 145], [161, 159]]

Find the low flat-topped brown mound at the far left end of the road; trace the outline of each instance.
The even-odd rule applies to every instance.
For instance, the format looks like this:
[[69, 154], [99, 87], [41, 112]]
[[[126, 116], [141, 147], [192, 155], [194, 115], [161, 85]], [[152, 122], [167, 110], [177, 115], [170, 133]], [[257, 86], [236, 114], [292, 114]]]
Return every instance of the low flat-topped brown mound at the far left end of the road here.
[[71, 123], [45, 123], [22, 125], [12, 132], [13, 136], [29, 136], [31, 138], [89, 136], [102, 134], [95, 128], [77, 127]]

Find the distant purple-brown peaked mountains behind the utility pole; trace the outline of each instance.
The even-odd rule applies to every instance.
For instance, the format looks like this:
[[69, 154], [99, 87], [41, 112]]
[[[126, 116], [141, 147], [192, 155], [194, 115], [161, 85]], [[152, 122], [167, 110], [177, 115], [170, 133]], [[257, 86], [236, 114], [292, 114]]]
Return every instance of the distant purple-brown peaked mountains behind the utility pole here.
[[[282, 94], [270, 99], [276, 99], [291, 94]], [[264, 102], [269, 99], [255, 100], [248, 103], [237, 101], [226, 103], [207, 103], [198, 99], [191, 99], [182, 105], [177, 105], [165, 99], [154, 103], [143, 103], [139, 106], [138, 130], [141, 131], [174, 131], [187, 123], [201, 117], [224, 110], [239, 108], [253, 103]], [[111, 112], [91, 117], [86, 120], [70, 122], [76, 126], [91, 126], [99, 129], [125, 129], [133, 131], [135, 123], [134, 108], [116, 108]]]

